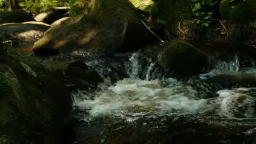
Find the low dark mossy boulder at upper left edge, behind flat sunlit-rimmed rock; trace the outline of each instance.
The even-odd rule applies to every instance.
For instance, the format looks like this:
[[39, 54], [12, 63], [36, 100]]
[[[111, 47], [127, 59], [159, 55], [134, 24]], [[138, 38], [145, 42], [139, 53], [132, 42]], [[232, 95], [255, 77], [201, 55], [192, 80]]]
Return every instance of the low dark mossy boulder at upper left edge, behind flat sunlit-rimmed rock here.
[[12, 11], [0, 11], [0, 24], [26, 21], [35, 21], [35, 19], [29, 16], [29, 14], [22, 9]]

